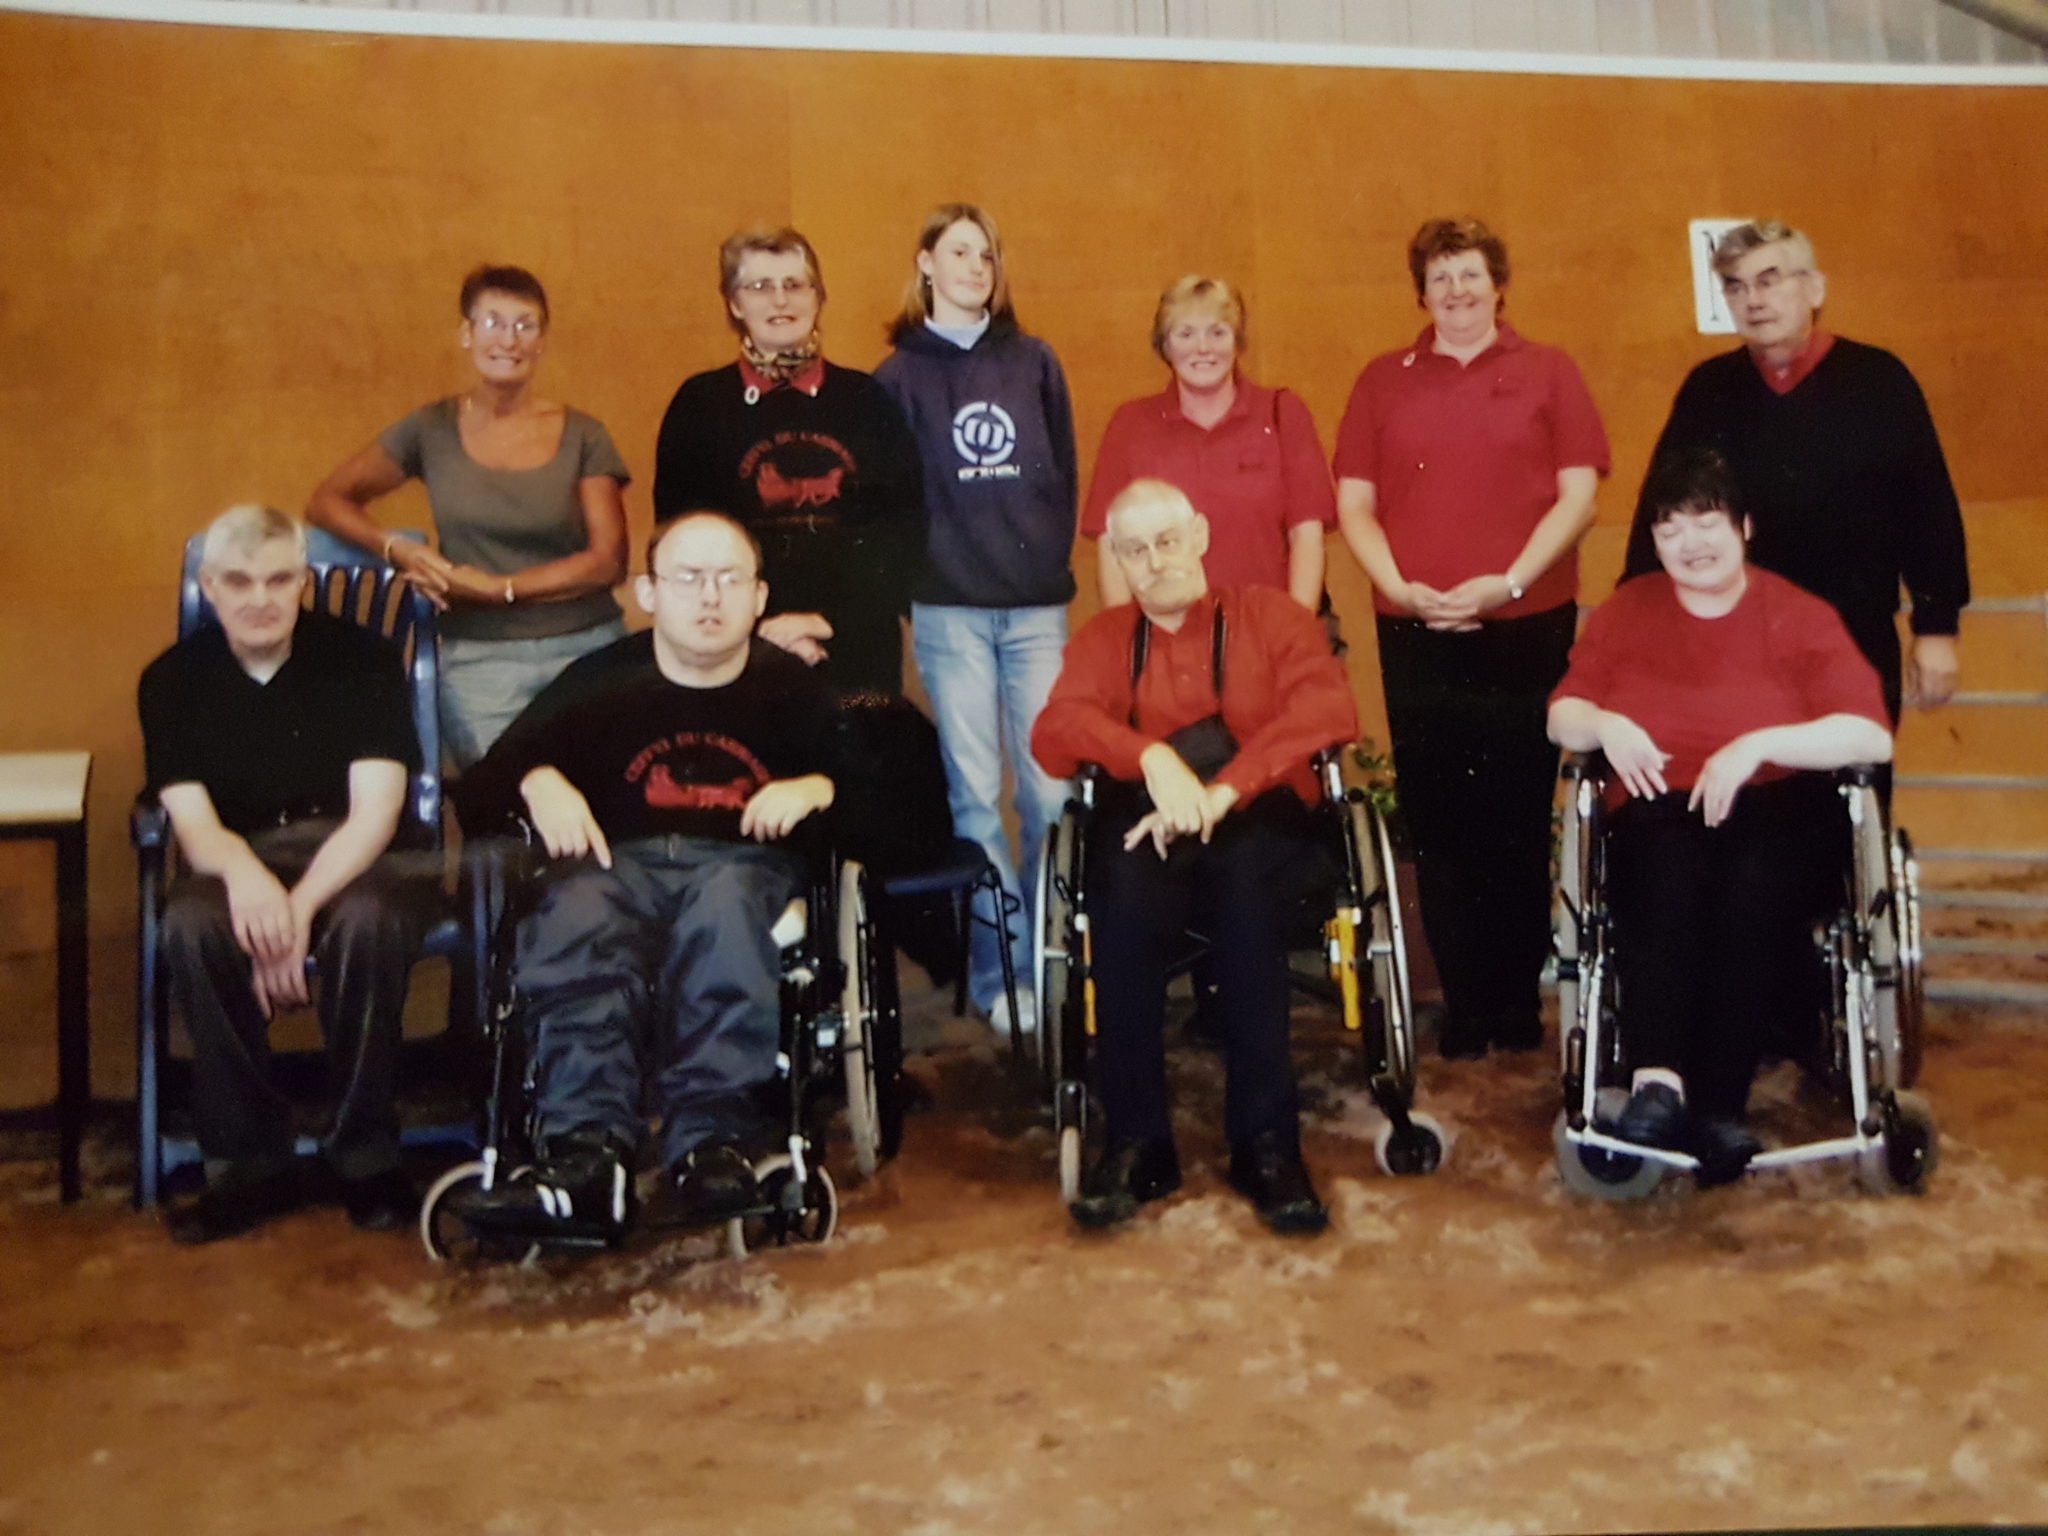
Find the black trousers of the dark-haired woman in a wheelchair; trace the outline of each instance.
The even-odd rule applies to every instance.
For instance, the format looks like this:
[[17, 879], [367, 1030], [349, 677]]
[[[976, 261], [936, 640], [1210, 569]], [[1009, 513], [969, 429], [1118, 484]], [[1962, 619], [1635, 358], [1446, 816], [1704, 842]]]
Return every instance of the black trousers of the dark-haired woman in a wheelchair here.
[[1843, 891], [1827, 774], [1749, 784], [1718, 827], [1673, 791], [1608, 821], [1608, 903], [1632, 1067], [1671, 1067], [1706, 1114], [1741, 1116], [1763, 1051], [1810, 1038], [1825, 999], [1812, 926]]

